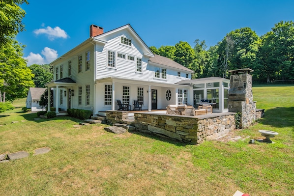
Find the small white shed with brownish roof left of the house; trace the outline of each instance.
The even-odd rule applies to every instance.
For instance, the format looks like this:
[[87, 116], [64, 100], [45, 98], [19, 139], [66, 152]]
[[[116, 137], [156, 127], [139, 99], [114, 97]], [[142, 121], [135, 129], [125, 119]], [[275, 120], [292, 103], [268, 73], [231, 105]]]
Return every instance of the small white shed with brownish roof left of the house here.
[[39, 105], [40, 97], [45, 92], [46, 88], [29, 88], [26, 107], [31, 109], [31, 112], [45, 111], [44, 107]]

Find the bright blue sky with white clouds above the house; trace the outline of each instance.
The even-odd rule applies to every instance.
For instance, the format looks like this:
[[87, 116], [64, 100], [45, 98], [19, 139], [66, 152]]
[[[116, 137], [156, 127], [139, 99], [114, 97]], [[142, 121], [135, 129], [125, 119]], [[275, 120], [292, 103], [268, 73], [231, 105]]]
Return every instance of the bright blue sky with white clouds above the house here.
[[91, 24], [104, 32], [130, 24], [147, 46], [208, 47], [227, 33], [249, 27], [264, 35], [280, 21], [294, 21], [294, 0], [28, 0], [17, 40], [33, 63], [55, 60], [89, 37]]

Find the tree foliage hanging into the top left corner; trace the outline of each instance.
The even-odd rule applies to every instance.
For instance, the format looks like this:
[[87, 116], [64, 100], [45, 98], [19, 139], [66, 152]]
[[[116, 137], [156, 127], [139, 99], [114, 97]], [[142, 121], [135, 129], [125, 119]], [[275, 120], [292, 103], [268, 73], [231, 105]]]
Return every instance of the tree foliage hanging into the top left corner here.
[[1, 0], [0, 1], [0, 47], [24, 30], [22, 19], [26, 12], [20, 5], [29, 4], [27, 0]]

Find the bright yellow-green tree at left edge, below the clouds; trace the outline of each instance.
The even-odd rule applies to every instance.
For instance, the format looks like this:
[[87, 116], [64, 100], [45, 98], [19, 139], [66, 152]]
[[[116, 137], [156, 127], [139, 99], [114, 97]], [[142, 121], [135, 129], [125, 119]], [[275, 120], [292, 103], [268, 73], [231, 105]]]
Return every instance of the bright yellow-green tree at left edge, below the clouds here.
[[26, 97], [34, 86], [34, 75], [22, 56], [23, 47], [16, 40], [10, 39], [0, 48], [0, 102]]

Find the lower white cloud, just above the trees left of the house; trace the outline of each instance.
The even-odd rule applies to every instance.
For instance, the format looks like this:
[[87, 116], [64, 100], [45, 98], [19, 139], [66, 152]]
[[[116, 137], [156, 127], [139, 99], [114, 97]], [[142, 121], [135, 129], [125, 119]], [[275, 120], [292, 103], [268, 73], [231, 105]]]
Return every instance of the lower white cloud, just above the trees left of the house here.
[[34, 54], [32, 52], [29, 53], [29, 56], [24, 57], [28, 60], [28, 66], [32, 64], [48, 64], [58, 57], [58, 53], [56, 50], [45, 47], [44, 50], [42, 50], [41, 54]]

